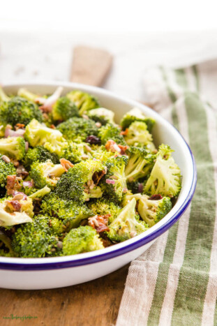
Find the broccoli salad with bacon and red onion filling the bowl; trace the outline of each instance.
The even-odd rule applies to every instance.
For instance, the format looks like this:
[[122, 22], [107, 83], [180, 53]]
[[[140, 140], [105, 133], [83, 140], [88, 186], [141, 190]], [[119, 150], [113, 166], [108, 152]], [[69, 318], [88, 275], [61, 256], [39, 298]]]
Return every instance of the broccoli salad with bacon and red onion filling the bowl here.
[[172, 208], [181, 171], [154, 119], [82, 91], [0, 89], [0, 255], [54, 257], [140, 235]]

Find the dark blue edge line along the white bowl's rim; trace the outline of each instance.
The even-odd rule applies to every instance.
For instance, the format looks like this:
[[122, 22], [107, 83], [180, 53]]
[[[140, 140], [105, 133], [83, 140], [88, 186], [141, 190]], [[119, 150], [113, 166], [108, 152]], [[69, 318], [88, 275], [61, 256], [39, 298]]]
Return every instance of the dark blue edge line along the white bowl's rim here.
[[[95, 87], [94, 87], [95, 88]], [[167, 121], [168, 124], [170, 124], [169, 121]], [[177, 133], [179, 131], [177, 128], [175, 128], [172, 124], [170, 124], [172, 128], [174, 128]], [[31, 263], [31, 264], [23, 264], [23, 263], [14, 263], [14, 262], [0, 262], [0, 269], [8, 269], [8, 270], [17, 270], [17, 271], [43, 271], [48, 269], [62, 269], [62, 268], [70, 268], [70, 267], [79, 267], [82, 265], [89, 265], [96, 262], [101, 262], [103, 260], [108, 260], [112, 258], [116, 258], [119, 255], [124, 255], [125, 253], [128, 253], [130, 251], [133, 251], [135, 249], [140, 248], [140, 246], [144, 246], [145, 244], [148, 244], [152, 240], [156, 239], [160, 235], [162, 235], [165, 231], [167, 231], [169, 228], [176, 223], [182, 214], [186, 211], [188, 205], [190, 204], [193, 195], [195, 193], [195, 188], [197, 184], [197, 168], [195, 164], [195, 158], [193, 156], [193, 153], [184, 139], [184, 137], [179, 133], [182, 140], [184, 140], [186, 147], [188, 148], [188, 151], [190, 152], [190, 157], [192, 159], [193, 164], [193, 179], [190, 186], [190, 190], [188, 192], [188, 195], [186, 196], [186, 200], [183, 202], [181, 207], [177, 210], [177, 212], [174, 213], [174, 215], [170, 218], [167, 223], [163, 224], [158, 228], [156, 231], [152, 232], [151, 234], [147, 235], [146, 237], [142, 239], [138, 239], [137, 241], [133, 242], [133, 244], [128, 244], [124, 246], [123, 248], [114, 249], [113, 251], [107, 252], [107, 253], [101, 253], [93, 257], [87, 257], [87, 258], [81, 258], [77, 260], [67, 260], [67, 261], [61, 261], [61, 262], [42, 262], [42, 263]], [[8, 258], [9, 259], [9, 258]]]

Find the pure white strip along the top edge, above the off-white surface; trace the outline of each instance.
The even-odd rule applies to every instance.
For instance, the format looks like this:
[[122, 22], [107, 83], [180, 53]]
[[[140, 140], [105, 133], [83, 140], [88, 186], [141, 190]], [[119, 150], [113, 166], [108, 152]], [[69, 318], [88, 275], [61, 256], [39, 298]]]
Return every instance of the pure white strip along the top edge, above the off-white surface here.
[[0, 27], [58, 31], [216, 29], [216, 0], [1, 0]]

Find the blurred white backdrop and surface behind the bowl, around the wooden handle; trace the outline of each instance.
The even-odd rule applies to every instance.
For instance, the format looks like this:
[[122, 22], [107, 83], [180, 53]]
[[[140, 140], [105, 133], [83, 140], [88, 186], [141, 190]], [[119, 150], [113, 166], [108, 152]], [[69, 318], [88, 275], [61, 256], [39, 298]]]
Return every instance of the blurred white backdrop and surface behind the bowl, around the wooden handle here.
[[0, 82], [69, 80], [73, 47], [114, 56], [104, 87], [145, 101], [144, 70], [217, 57], [217, 2], [1, 0]]

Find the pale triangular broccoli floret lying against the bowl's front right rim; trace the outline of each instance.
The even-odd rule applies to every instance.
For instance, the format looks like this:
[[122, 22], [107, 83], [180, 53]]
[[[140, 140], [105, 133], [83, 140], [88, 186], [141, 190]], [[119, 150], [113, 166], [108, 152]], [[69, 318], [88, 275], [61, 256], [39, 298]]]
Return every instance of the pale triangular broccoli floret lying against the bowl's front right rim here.
[[144, 221], [140, 221], [135, 213], [136, 200], [133, 198], [121, 209], [120, 214], [110, 224], [107, 237], [114, 242], [122, 242], [146, 231], [149, 227]]

